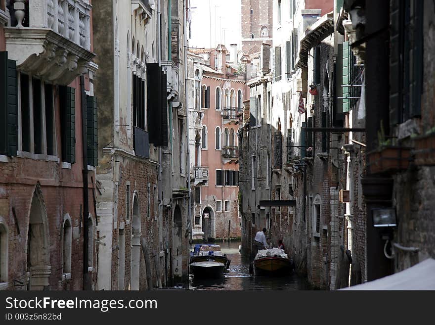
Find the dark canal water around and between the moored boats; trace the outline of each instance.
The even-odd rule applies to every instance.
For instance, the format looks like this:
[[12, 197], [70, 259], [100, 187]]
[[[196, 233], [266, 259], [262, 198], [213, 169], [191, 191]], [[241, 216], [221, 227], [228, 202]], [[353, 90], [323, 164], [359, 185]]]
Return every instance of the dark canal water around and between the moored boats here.
[[[249, 273], [250, 260], [238, 253], [240, 241], [216, 242], [222, 251], [230, 250], [227, 257], [231, 264], [227, 273], [221, 279], [189, 278], [191, 290], [305, 290], [308, 285], [296, 274], [279, 277], [255, 277]], [[192, 246], [193, 249], [193, 246]]]

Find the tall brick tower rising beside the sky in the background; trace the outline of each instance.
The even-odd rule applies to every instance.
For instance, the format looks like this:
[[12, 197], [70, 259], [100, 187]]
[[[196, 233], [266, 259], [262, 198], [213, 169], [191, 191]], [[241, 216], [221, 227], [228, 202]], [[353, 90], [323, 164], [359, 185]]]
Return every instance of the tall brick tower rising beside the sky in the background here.
[[[273, 0], [242, 0], [242, 51], [253, 54], [272, 44]], [[295, 2], [293, 0], [293, 2]]]

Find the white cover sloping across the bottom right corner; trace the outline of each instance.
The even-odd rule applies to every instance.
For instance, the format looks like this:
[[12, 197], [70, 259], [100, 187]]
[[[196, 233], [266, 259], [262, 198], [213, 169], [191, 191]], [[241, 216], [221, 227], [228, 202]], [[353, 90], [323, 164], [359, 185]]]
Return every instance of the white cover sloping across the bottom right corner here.
[[391, 276], [341, 290], [435, 290], [435, 260], [429, 258]]

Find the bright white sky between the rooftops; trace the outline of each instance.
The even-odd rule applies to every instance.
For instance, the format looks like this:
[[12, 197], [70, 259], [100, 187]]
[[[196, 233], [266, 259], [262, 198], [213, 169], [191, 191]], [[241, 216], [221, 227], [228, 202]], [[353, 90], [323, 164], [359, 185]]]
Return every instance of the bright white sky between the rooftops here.
[[[241, 46], [241, 0], [191, 0], [189, 47]], [[211, 41], [210, 42], [210, 37]]]

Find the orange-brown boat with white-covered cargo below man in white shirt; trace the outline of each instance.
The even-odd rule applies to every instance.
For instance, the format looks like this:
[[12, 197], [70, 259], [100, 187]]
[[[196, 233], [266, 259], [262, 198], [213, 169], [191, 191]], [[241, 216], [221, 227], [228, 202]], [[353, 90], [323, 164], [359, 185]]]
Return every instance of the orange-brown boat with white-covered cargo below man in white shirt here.
[[256, 276], [284, 276], [293, 272], [293, 261], [283, 249], [261, 249], [254, 259]]

